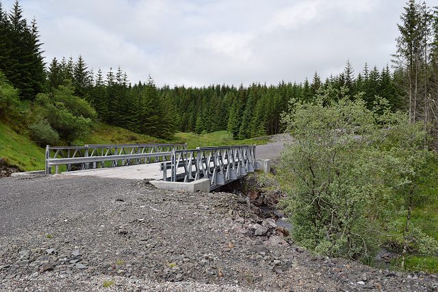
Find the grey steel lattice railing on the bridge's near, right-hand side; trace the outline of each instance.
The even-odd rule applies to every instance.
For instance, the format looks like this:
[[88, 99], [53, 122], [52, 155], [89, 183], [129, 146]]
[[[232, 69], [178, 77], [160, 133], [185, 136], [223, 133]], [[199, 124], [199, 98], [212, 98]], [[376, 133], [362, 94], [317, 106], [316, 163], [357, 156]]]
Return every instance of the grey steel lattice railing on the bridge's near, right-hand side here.
[[[164, 163], [166, 181], [168, 162]], [[167, 165], [167, 166], [166, 166]], [[183, 168], [182, 172], [180, 169]], [[255, 146], [198, 147], [174, 150], [170, 161], [170, 181], [190, 183], [209, 178], [210, 189], [234, 181], [255, 170]]]

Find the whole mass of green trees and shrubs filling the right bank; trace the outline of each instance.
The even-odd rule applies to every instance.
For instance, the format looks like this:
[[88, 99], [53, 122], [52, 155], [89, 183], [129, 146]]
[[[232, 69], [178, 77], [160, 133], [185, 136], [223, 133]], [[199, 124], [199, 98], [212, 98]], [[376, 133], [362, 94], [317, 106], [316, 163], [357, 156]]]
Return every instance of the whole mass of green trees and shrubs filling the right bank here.
[[370, 110], [360, 96], [330, 93], [292, 101], [283, 117], [295, 138], [281, 165], [292, 236], [318, 254], [365, 262], [386, 244], [402, 268], [408, 253], [438, 256], [438, 238], [411, 220], [438, 202], [438, 162], [422, 123], [385, 100]]

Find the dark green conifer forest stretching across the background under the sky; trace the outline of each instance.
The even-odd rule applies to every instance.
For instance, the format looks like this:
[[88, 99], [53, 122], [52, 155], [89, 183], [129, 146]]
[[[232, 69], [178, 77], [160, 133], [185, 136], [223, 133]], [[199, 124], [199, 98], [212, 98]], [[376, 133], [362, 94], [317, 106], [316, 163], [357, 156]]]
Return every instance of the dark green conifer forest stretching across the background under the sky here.
[[[409, 0], [398, 25], [392, 68], [365, 64], [361, 72], [354, 72], [346, 62], [343, 72], [324, 80], [315, 72], [310, 80], [299, 83], [159, 88], [150, 76], [144, 82], [131, 83], [120, 66], [94, 72], [81, 55], [77, 60], [54, 58], [45, 68], [36, 20], [27, 23], [18, 1], [9, 13], [0, 2], [0, 70], [21, 100], [34, 102], [38, 94], [47, 94], [49, 101], [61, 108], [62, 102], [55, 96], [69, 92], [94, 109], [94, 115], [83, 114], [90, 124], [100, 120], [155, 137], [171, 137], [177, 131], [227, 130], [237, 139], [281, 133], [285, 129], [281, 114], [289, 101], [314, 101], [328, 88], [333, 96], [339, 90], [359, 96], [369, 109], [378, 98], [385, 98], [392, 111], [409, 111], [411, 120], [424, 120], [436, 136], [437, 23], [435, 10]], [[31, 123], [44, 119], [47, 117], [34, 115]], [[71, 142], [71, 137], [67, 141]]]

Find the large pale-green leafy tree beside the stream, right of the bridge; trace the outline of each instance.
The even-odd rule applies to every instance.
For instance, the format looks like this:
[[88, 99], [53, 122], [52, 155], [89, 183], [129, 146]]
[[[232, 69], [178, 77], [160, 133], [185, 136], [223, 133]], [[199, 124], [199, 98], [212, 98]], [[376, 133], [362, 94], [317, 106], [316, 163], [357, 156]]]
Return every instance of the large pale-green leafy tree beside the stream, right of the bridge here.
[[379, 242], [366, 218], [381, 190], [376, 161], [368, 159], [373, 113], [349, 96], [326, 106], [323, 98], [292, 104], [283, 120], [296, 143], [284, 152], [282, 177], [293, 237], [320, 254], [369, 258]]

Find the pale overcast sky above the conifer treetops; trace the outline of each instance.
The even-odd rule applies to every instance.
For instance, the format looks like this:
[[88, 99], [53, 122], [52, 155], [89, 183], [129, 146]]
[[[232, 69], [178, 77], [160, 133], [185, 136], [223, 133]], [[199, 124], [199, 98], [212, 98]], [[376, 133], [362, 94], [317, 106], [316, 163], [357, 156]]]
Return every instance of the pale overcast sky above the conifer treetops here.
[[[1, 1], [1, 0], [0, 0]], [[12, 8], [13, 0], [3, 0]], [[248, 85], [325, 78], [349, 59], [382, 68], [395, 51], [403, 0], [21, 0], [44, 56], [81, 54], [131, 82]], [[438, 0], [428, 0], [437, 5]], [[435, 3], [434, 3], [435, 2]]]

